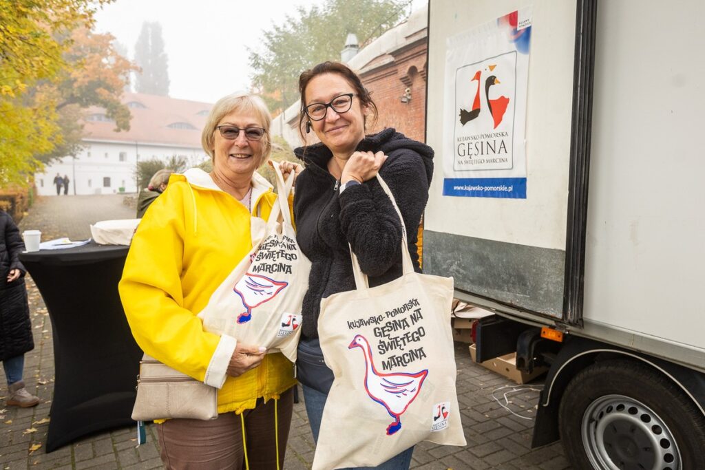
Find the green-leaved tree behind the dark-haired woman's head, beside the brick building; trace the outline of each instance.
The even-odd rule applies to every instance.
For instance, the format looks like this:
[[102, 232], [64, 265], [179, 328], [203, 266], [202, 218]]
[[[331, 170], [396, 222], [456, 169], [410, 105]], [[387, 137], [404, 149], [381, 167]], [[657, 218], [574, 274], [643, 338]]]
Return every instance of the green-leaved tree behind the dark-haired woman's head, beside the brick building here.
[[299, 7], [281, 25], [263, 33], [262, 50], [250, 50], [252, 85], [269, 109], [286, 109], [298, 98], [298, 77], [323, 61], [339, 61], [345, 38], [353, 32], [360, 46], [398, 23], [409, 0], [326, 0]]

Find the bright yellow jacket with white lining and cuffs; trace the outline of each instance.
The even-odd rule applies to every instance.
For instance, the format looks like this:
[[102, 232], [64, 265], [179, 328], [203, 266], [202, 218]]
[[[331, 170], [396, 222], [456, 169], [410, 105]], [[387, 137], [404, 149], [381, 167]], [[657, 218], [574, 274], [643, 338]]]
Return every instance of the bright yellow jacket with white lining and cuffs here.
[[[257, 173], [252, 185], [252, 214], [266, 219], [276, 194]], [[172, 175], [166, 191], [149, 206], [119, 285], [137, 345], [219, 388], [219, 413], [252, 409], [258, 397], [277, 398], [296, 383], [293, 366], [281, 353], [266, 354], [262, 364], [242, 376], [226, 376], [237, 342], [207, 333], [196, 316], [250, 249], [247, 208], [207, 173], [192, 168]]]

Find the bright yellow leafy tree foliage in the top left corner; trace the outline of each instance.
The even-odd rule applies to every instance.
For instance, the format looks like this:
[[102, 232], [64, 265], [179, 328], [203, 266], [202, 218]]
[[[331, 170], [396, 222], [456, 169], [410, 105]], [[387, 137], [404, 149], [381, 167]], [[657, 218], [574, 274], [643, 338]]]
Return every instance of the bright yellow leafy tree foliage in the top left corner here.
[[37, 153], [61, 143], [56, 90], [71, 31], [90, 25], [91, 0], [0, 0], [0, 185], [22, 183]]

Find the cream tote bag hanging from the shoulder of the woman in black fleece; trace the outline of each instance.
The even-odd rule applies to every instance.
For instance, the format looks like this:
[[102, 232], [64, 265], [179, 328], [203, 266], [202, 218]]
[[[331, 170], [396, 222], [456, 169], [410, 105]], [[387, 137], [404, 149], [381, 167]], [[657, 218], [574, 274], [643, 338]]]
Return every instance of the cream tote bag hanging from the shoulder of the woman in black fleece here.
[[416, 273], [403, 219], [402, 233], [401, 278], [369, 287], [351, 250], [357, 288], [321, 300], [319, 338], [335, 379], [313, 470], [376, 466], [422, 440], [465, 445], [450, 330], [453, 278]]

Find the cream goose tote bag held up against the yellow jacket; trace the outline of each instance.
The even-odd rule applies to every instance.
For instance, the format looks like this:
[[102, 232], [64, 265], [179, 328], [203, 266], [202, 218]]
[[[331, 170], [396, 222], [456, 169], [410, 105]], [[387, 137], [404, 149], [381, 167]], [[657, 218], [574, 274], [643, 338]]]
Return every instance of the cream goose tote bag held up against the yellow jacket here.
[[296, 361], [301, 304], [311, 263], [296, 242], [288, 194], [293, 174], [283, 180], [274, 165], [278, 197], [266, 225], [252, 217], [252, 250], [213, 292], [198, 316], [205, 330], [247, 345], [264, 346]]

